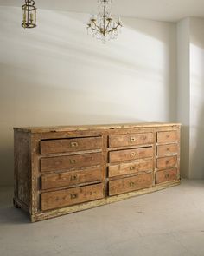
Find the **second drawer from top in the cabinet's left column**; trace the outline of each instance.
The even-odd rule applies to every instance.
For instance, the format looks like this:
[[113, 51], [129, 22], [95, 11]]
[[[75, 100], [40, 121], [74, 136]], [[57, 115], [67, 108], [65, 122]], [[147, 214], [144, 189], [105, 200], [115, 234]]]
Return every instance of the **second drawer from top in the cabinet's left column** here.
[[75, 167], [92, 167], [102, 162], [101, 153], [64, 155], [41, 159], [41, 172], [68, 170]]

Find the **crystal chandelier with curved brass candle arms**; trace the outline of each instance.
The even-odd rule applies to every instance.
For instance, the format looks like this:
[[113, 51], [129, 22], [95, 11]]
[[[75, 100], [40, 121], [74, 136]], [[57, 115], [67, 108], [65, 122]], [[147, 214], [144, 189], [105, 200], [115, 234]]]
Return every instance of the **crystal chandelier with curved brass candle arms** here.
[[91, 32], [93, 37], [102, 40], [105, 43], [107, 40], [116, 39], [118, 31], [122, 28], [122, 22], [118, 17], [118, 22], [115, 22], [111, 14], [112, 0], [98, 0], [99, 14], [93, 15], [87, 23], [88, 33]]

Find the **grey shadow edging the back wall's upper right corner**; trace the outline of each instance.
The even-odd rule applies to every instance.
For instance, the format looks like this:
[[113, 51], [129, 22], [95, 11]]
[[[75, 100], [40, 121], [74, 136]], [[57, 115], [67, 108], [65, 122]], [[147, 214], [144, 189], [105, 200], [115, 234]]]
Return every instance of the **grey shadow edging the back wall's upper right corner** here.
[[[163, 65], [168, 66], [168, 72], [166, 73], [167, 82], [168, 82], [168, 98], [167, 103], [169, 104], [169, 120], [176, 121], [175, 113], [177, 111], [177, 81], [176, 81], [176, 26], [175, 23], [160, 23], [150, 20], [141, 20], [141, 19], [125, 19], [125, 26], [133, 31], [137, 31], [137, 35], [140, 33], [144, 36], [151, 36], [154, 38], [157, 43], [160, 43], [161, 49], [163, 49], [163, 54], [166, 56], [166, 59], [163, 59]], [[165, 25], [164, 25], [165, 24]], [[156, 27], [156, 30], [155, 30]], [[169, 33], [167, 33], [169, 30]], [[163, 40], [161, 40], [161, 36]], [[135, 44], [138, 45], [137, 37]], [[151, 42], [154, 44], [154, 42]], [[150, 44], [151, 44], [150, 43]], [[153, 70], [152, 70], [153, 71]], [[164, 83], [163, 83], [164, 84]]]

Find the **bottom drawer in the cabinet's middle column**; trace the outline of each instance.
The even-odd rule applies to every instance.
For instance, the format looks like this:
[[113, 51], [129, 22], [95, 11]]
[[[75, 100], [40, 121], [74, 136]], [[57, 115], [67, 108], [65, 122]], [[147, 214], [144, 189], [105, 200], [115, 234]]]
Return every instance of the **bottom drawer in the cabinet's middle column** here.
[[131, 178], [124, 178], [116, 181], [109, 181], [109, 195], [123, 194], [153, 184], [153, 174], [139, 174]]

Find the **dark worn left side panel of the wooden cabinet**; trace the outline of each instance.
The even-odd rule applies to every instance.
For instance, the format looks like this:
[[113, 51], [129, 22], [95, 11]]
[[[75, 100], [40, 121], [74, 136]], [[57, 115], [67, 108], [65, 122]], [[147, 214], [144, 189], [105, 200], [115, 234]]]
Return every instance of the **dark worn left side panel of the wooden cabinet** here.
[[30, 137], [15, 131], [15, 199], [30, 206]]

